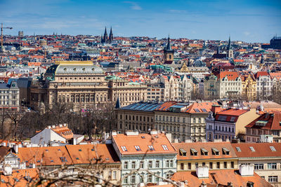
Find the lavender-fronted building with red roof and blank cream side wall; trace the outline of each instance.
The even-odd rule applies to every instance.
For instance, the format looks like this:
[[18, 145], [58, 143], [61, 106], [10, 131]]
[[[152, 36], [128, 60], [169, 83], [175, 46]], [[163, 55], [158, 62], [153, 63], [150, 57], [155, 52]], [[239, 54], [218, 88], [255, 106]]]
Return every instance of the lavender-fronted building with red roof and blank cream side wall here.
[[[220, 106], [213, 107], [219, 108]], [[214, 111], [216, 109], [211, 110], [206, 118], [207, 141], [215, 141], [216, 139], [226, 141], [237, 137], [244, 139], [246, 133], [244, 125], [259, 116], [255, 109], [226, 109], [216, 113]]]

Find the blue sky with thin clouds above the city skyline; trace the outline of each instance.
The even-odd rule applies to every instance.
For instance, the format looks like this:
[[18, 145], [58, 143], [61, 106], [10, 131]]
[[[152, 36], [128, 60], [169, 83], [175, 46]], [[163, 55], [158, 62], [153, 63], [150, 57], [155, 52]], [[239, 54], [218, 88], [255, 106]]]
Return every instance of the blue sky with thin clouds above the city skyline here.
[[[4, 34], [103, 34], [269, 43], [281, 36], [281, 1], [0, 0]], [[109, 34], [109, 30], [107, 30]]]

